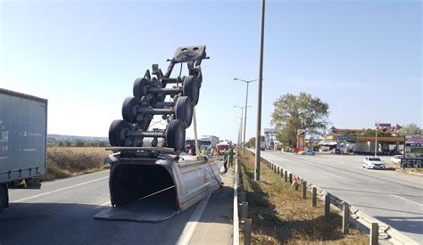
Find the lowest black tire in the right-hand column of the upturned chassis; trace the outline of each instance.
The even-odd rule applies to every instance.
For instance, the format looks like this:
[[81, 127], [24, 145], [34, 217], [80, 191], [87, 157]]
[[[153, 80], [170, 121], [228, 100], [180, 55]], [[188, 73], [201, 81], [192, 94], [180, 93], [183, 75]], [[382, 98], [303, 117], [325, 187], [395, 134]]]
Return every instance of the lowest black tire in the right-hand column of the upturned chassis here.
[[185, 122], [174, 119], [170, 120], [166, 127], [166, 146], [175, 151], [183, 151], [185, 148]]

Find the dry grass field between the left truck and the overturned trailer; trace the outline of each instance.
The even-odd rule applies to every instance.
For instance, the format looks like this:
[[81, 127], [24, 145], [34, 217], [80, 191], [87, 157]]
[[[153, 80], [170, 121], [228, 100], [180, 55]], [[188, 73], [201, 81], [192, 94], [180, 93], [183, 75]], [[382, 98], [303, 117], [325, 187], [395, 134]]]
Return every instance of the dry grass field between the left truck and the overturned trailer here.
[[47, 148], [47, 174], [43, 180], [95, 172], [104, 167], [104, 158], [110, 153], [95, 147]]

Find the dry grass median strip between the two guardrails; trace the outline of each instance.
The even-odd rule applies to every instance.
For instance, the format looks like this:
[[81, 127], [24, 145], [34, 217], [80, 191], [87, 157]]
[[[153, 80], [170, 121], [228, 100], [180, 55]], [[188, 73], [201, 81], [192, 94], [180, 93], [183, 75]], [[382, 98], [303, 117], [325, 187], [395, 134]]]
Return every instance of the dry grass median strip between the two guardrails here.
[[241, 167], [249, 214], [253, 218], [254, 244], [369, 243], [366, 235], [352, 228], [344, 235], [341, 216], [332, 213], [325, 218], [323, 203], [318, 201], [318, 207], [311, 208], [310, 197], [303, 200], [302, 192], [294, 191], [264, 164], [261, 164], [261, 181], [254, 182], [253, 156], [246, 154]]

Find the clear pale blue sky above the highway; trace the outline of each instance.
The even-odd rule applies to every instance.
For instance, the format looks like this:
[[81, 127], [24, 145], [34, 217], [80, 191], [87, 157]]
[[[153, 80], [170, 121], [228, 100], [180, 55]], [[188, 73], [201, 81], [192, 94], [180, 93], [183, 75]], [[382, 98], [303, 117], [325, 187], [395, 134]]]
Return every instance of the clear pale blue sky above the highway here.
[[[49, 134], [107, 136], [145, 69], [206, 45], [198, 134], [236, 140], [246, 86], [233, 78], [259, 76], [260, 13], [259, 0], [0, 0], [0, 87], [48, 99]], [[268, 0], [261, 130], [279, 96], [300, 92], [328, 102], [329, 127], [421, 127], [421, 18], [420, 1]]]

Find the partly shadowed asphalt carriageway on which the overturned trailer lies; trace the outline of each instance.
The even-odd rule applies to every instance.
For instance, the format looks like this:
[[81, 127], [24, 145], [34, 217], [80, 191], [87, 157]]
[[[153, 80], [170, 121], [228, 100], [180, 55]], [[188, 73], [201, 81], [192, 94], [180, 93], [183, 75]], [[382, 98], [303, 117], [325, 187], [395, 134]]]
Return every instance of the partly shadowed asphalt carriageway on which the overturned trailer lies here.
[[[108, 181], [109, 171], [104, 171], [47, 182], [41, 190], [11, 190], [10, 208], [0, 214], [0, 244], [175, 244], [198, 207], [195, 204], [160, 223], [95, 220], [96, 213], [110, 207]], [[221, 197], [228, 196], [216, 192], [206, 211], [217, 209]], [[229, 219], [220, 215], [211, 218], [213, 210], [199, 220], [203, 231], [203, 220], [230, 226]], [[196, 232], [197, 228], [193, 238]]]

